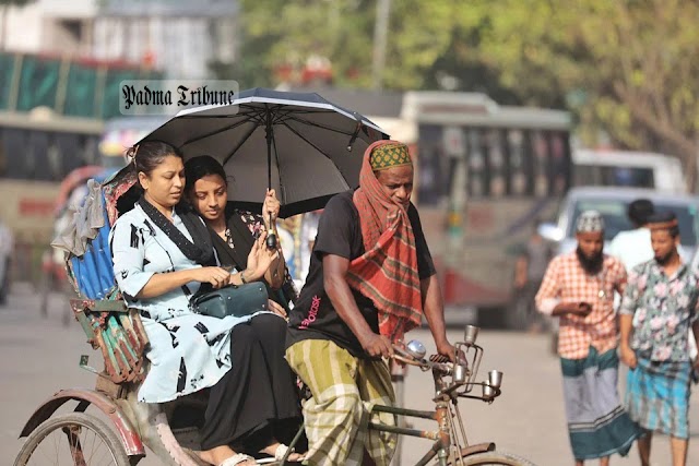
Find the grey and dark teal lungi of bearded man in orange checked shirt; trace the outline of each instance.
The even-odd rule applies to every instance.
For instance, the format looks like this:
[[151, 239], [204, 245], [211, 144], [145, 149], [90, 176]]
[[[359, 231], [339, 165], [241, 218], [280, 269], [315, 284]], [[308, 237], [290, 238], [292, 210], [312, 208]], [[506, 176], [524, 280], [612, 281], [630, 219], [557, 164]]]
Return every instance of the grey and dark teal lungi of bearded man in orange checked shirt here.
[[616, 349], [600, 355], [590, 347], [584, 359], [560, 358], [570, 445], [576, 459], [618, 453], [626, 456], [641, 430], [619, 402]]

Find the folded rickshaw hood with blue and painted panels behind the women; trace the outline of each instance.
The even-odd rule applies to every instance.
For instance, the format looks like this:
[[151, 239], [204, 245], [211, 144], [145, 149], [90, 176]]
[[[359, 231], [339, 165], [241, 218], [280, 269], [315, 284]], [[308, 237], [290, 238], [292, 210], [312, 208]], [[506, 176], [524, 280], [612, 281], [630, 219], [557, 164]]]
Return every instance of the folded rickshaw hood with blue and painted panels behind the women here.
[[[117, 385], [139, 383], [146, 373], [144, 351], [149, 339], [138, 311], [128, 309], [119, 295], [108, 242], [109, 229], [117, 218], [133, 207], [137, 175], [125, 168], [99, 181], [96, 193], [95, 184], [88, 183], [91, 201], [78, 207], [72, 229], [67, 229], [68, 236], [61, 237], [62, 241], [57, 241], [57, 246], [64, 248], [68, 244], [69, 250], [74, 251], [66, 254], [68, 278], [78, 295], [78, 299], [71, 300], [71, 308], [87, 342], [102, 353], [105, 363], [104, 371], [99, 372], [87, 367], [87, 357], [83, 357], [81, 367]], [[96, 222], [99, 215], [104, 218], [102, 226]], [[83, 228], [78, 228], [79, 225]], [[86, 225], [94, 236], [85, 231]], [[76, 232], [74, 239], [71, 231]], [[72, 248], [73, 242], [80, 241], [85, 241], [83, 249]]]

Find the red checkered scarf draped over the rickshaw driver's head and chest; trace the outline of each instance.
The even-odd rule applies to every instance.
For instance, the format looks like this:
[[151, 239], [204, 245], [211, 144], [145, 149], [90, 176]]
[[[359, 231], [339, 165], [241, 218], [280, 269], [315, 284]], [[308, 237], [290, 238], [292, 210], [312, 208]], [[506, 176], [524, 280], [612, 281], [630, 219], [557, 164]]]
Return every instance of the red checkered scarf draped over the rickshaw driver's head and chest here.
[[347, 280], [374, 301], [381, 335], [395, 342], [420, 324], [423, 301], [415, 235], [407, 211], [386, 194], [369, 162], [371, 151], [387, 143], [395, 141], [375, 142], [364, 154], [359, 189], [353, 200], [359, 212], [366, 252], [350, 264]]

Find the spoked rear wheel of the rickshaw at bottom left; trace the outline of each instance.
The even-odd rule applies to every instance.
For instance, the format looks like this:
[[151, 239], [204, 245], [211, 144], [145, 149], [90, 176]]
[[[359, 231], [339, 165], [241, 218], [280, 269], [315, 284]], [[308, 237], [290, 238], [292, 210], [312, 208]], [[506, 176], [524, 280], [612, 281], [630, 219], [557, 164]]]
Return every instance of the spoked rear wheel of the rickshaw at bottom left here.
[[133, 466], [121, 440], [94, 416], [70, 413], [42, 422], [32, 432], [14, 466]]

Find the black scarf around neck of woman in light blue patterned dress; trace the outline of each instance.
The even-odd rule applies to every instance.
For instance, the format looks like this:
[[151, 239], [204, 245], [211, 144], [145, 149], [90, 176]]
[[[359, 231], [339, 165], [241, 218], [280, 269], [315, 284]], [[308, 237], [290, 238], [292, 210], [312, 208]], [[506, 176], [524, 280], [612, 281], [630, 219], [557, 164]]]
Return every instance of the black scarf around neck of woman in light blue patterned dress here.
[[167, 237], [182, 251], [187, 259], [197, 262], [199, 265], [209, 266], [216, 265], [214, 250], [211, 243], [211, 235], [209, 229], [193, 210], [185, 203], [175, 206], [175, 212], [182, 219], [182, 224], [192, 237], [190, 241], [165, 215], [161, 213], [153, 204], [147, 202], [143, 195], [139, 199], [138, 204], [143, 208], [145, 215], [167, 235]]

